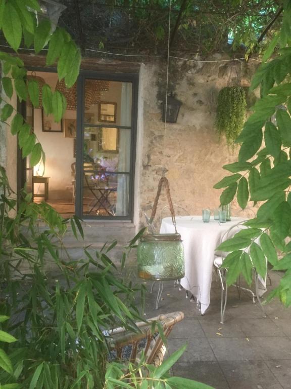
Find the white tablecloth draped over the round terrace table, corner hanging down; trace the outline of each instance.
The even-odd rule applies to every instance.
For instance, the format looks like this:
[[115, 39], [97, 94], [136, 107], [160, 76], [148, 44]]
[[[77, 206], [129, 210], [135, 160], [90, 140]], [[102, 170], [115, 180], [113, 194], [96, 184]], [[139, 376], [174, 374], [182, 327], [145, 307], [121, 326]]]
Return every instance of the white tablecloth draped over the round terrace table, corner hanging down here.
[[[209, 223], [204, 223], [202, 216], [176, 216], [176, 227], [183, 241], [185, 256], [185, 277], [181, 279], [181, 285], [197, 298], [202, 314], [210, 304], [215, 249], [223, 234], [243, 220], [246, 219], [232, 217], [231, 221], [219, 223], [211, 217]], [[160, 232], [175, 232], [171, 217], [162, 220]]]

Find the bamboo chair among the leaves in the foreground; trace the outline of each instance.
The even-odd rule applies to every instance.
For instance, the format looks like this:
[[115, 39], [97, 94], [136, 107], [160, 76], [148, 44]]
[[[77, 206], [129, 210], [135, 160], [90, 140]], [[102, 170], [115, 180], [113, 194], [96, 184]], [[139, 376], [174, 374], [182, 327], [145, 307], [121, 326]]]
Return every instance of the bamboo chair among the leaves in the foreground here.
[[[184, 319], [183, 312], [173, 312], [166, 315], [159, 315], [149, 319], [147, 322], [138, 322], [136, 326], [140, 332], [125, 331], [123, 327], [115, 328], [109, 331], [109, 347], [112, 353], [116, 353], [118, 360], [128, 359], [134, 363], [138, 360], [140, 352], [144, 351], [146, 363], [160, 366], [166, 352], [166, 346], [163, 343], [158, 324], [152, 331], [152, 323], [159, 322], [163, 328], [164, 335], [167, 337], [172, 331], [174, 325]], [[124, 355], [130, 354], [127, 358]]]

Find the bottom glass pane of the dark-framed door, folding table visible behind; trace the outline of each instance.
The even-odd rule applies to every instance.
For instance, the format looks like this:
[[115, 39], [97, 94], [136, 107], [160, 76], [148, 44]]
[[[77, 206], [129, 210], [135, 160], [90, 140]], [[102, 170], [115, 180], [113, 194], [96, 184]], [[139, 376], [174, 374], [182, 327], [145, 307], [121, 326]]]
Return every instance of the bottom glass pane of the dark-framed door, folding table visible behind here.
[[84, 163], [83, 215], [128, 216], [129, 175], [92, 170]]

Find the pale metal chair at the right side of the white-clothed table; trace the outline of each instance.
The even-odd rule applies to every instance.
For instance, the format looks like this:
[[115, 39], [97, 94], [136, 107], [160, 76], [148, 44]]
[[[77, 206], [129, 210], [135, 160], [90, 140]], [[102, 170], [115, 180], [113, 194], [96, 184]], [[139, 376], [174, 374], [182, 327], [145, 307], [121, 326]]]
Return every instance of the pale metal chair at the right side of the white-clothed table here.
[[[238, 232], [238, 230], [240, 230], [242, 228], [247, 228], [247, 226], [244, 226], [245, 221], [247, 221], [247, 220], [240, 221], [239, 223], [231, 226], [225, 232], [225, 234], [222, 236], [220, 243], [226, 241], [229, 238], [232, 238], [236, 234], [236, 232]], [[229, 254], [229, 252], [221, 252], [221, 251], [216, 252], [215, 258], [214, 258], [214, 266], [219, 273], [219, 278], [220, 278], [220, 282], [221, 282], [221, 306], [220, 306], [220, 323], [221, 324], [224, 323], [224, 314], [225, 314], [226, 303], [227, 303], [227, 284], [226, 284], [226, 271], [227, 271], [227, 269], [222, 268], [221, 266], [222, 266], [224, 258], [228, 254]], [[264, 311], [264, 308], [263, 308], [263, 305], [260, 301], [260, 296], [259, 296], [258, 273], [257, 273], [255, 268], [253, 268], [253, 271], [254, 271], [254, 278], [255, 278], [255, 293], [251, 289], [244, 288], [240, 285], [234, 284], [234, 286], [237, 288], [238, 291], [245, 290], [245, 291], [251, 293], [254, 304], [256, 303], [256, 298], [257, 298], [259, 306], [263, 312], [263, 317], [266, 317], [266, 314], [265, 314], [265, 311]]]

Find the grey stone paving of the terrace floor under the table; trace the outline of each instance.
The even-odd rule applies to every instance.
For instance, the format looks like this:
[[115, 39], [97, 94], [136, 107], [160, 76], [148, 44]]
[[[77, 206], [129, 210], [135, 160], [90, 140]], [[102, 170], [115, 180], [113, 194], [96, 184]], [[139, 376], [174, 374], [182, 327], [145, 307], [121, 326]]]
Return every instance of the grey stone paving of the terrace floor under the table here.
[[[272, 286], [280, 273], [270, 272]], [[151, 283], [147, 283], [150, 290]], [[220, 281], [214, 276], [210, 306], [201, 316], [185, 291], [165, 282], [159, 309], [154, 309], [157, 286], [147, 293], [146, 317], [181, 310], [185, 318], [169, 335], [167, 353], [185, 342], [186, 352], [173, 366], [174, 375], [207, 383], [215, 389], [291, 388], [291, 307], [279, 300], [265, 305], [263, 318], [250, 294], [229, 288], [224, 324], [220, 324]]]

